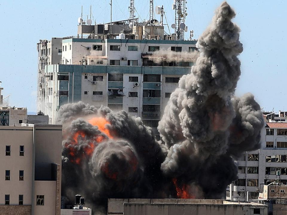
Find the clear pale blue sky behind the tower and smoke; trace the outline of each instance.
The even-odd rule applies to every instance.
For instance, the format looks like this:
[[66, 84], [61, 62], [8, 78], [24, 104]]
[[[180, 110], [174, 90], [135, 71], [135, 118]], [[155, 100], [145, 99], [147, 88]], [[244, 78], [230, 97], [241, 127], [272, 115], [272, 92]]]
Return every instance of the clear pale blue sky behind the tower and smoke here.
[[[110, 20], [109, 0], [86, 1], [0, 1], [0, 81], [10, 105], [36, 111], [37, 50], [39, 39], [77, 35], [77, 19], [88, 15], [90, 5], [97, 23]], [[169, 26], [173, 23], [172, 0], [164, 5]], [[186, 24], [195, 39], [210, 23], [222, 1], [187, 0]], [[241, 28], [244, 51], [240, 55], [242, 75], [236, 95], [251, 92], [264, 110], [287, 110], [286, 104], [286, 13], [287, 1], [238, 1], [234, 22]], [[113, 0], [113, 21], [129, 17], [129, 0]], [[149, 19], [149, 0], [135, 0], [141, 19]], [[157, 19], [160, 16], [157, 15]], [[166, 22], [165, 22], [166, 23]], [[166, 30], [167, 31], [167, 30]]]

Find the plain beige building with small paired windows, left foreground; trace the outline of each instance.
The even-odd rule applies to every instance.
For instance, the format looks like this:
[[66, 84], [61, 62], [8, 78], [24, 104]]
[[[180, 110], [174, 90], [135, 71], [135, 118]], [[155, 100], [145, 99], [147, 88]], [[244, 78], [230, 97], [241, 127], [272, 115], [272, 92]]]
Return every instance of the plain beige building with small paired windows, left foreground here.
[[25, 125], [0, 126], [0, 214], [60, 215], [62, 125]]

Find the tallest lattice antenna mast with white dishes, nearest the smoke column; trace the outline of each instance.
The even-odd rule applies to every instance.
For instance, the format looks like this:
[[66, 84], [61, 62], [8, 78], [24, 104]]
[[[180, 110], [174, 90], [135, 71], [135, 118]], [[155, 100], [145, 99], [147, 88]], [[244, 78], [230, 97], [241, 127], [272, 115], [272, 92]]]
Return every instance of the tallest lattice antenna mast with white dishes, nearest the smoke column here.
[[184, 40], [184, 32], [187, 32], [187, 26], [184, 24], [187, 16], [187, 1], [174, 0], [172, 10], [175, 10], [175, 23], [171, 25], [174, 28], [175, 40]]

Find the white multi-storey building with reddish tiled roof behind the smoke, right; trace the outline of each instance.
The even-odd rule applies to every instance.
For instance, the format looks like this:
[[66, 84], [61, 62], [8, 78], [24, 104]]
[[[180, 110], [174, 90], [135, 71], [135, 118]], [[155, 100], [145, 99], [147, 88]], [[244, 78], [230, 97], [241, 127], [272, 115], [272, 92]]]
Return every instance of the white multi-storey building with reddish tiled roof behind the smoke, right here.
[[258, 198], [259, 186], [266, 180], [287, 183], [287, 112], [267, 113], [264, 117], [261, 148], [246, 152], [236, 161], [238, 180], [228, 187], [226, 199], [251, 201]]

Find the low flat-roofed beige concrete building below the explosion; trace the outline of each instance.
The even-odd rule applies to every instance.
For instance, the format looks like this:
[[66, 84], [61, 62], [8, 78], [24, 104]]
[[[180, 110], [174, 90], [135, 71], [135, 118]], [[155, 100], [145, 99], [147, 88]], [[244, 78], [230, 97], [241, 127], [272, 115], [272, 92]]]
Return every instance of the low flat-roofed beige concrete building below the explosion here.
[[109, 199], [108, 215], [267, 215], [267, 205], [222, 199]]

